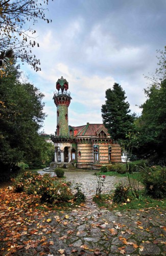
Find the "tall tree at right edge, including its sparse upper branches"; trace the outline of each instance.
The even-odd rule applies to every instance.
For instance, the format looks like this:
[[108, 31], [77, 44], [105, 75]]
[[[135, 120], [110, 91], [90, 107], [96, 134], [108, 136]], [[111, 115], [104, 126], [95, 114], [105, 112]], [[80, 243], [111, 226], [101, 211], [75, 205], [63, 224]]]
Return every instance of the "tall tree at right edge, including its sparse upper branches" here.
[[155, 75], [147, 77], [150, 85], [145, 89], [147, 100], [140, 106], [141, 116], [136, 120], [139, 157], [163, 163], [166, 157], [166, 47], [157, 51], [160, 56]]

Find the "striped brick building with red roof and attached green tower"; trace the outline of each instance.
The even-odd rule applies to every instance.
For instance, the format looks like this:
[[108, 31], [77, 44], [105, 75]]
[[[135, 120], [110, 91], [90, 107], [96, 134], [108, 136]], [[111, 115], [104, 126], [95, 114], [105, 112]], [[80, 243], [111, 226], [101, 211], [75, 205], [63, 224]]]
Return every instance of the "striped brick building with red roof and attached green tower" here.
[[51, 138], [55, 146], [55, 162], [76, 161], [79, 168], [90, 169], [121, 162], [121, 147], [113, 142], [103, 124], [68, 125], [68, 106], [72, 97], [67, 92], [66, 79], [58, 79], [56, 89], [58, 92], [53, 99], [57, 107], [57, 130]]

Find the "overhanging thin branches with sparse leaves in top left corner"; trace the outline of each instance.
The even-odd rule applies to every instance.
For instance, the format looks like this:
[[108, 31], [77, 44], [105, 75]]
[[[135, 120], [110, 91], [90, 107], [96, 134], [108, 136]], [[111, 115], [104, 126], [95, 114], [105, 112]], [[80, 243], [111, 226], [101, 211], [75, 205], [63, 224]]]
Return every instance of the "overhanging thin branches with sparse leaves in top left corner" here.
[[2, 0], [0, 2], [0, 67], [11, 57], [19, 58], [40, 70], [40, 60], [32, 53], [39, 47], [36, 31], [26, 24], [35, 24], [38, 19], [51, 22], [45, 17], [45, 5], [49, 0]]

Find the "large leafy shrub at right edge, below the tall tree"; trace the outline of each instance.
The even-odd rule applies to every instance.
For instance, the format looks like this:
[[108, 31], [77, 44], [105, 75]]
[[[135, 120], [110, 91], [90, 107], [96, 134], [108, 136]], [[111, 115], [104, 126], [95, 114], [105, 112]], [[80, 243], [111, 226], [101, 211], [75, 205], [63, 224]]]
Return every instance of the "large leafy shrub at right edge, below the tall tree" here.
[[142, 182], [146, 193], [153, 198], [166, 197], [166, 168], [161, 166], [146, 167], [141, 170]]

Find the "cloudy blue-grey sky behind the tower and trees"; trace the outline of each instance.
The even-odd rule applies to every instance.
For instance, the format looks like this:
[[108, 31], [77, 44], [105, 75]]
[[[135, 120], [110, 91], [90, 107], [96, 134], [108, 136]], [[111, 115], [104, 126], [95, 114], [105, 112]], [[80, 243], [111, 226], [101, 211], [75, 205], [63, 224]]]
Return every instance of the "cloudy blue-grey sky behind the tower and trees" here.
[[54, 134], [56, 106], [55, 85], [63, 76], [69, 82], [72, 101], [70, 125], [102, 123], [101, 106], [105, 91], [114, 82], [126, 92], [131, 113], [146, 98], [148, 86], [144, 75], [157, 68], [156, 50], [166, 45], [165, 0], [54, 0], [46, 16], [36, 25], [40, 47], [34, 53], [41, 61], [41, 71], [30, 66], [21, 69], [44, 93], [48, 114], [43, 131]]

